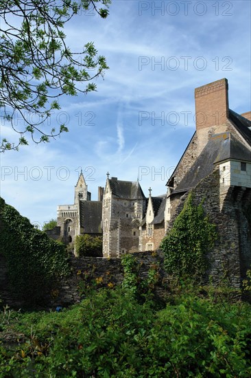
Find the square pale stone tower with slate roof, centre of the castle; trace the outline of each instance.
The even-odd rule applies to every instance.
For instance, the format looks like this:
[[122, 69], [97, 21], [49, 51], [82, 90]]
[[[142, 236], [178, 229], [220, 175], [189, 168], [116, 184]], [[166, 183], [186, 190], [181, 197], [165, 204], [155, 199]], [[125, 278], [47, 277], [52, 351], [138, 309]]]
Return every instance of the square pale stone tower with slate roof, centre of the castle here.
[[139, 181], [109, 179], [108, 175], [102, 210], [104, 257], [139, 252], [139, 225], [144, 214], [145, 195]]

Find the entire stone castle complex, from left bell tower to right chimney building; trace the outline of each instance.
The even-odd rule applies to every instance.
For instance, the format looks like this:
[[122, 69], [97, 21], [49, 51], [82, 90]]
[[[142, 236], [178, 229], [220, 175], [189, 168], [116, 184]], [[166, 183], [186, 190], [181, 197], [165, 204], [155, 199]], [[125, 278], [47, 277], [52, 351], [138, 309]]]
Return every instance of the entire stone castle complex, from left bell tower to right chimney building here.
[[229, 109], [225, 78], [195, 89], [195, 113], [195, 133], [167, 182], [167, 194], [153, 197], [150, 189], [146, 199], [139, 181], [108, 175], [99, 200], [91, 201], [81, 173], [74, 204], [58, 206], [64, 241], [103, 233], [106, 258], [156, 250], [193, 190], [219, 233], [209, 273], [220, 277], [229, 271], [239, 287], [251, 264], [251, 113]]

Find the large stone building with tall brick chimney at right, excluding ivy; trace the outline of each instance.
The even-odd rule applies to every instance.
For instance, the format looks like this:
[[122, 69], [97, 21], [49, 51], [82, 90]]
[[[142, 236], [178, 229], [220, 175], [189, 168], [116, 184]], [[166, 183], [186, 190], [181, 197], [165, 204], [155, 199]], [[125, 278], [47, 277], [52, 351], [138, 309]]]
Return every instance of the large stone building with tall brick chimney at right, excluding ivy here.
[[195, 89], [196, 131], [167, 182], [167, 232], [193, 190], [218, 240], [208, 275], [239, 288], [251, 264], [251, 113], [228, 107], [224, 78]]

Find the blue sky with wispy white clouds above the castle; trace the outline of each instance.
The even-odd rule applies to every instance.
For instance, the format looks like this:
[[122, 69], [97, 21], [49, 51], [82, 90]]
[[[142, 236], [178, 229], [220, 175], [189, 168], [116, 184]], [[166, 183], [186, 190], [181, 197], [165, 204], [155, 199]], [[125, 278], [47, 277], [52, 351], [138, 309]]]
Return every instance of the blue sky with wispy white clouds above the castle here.
[[[146, 196], [150, 186], [165, 193], [195, 131], [195, 87], [228, 78], [230, 109], [251, 110], [250, 19], [246, 0], [114, 0], [106, 20], [75, 16], [67, 44], [80, 51], [93, 41], [110, 69], [97, 92], [60, 100], [51, 125], [67, 122], [69, 133], [1, 154], [1, 196], [43, 225], [73, 203], [81, 168], [92, 199], [107, 171], [139, 177]], [[7, 124], [1, 133], [14, 137]]]

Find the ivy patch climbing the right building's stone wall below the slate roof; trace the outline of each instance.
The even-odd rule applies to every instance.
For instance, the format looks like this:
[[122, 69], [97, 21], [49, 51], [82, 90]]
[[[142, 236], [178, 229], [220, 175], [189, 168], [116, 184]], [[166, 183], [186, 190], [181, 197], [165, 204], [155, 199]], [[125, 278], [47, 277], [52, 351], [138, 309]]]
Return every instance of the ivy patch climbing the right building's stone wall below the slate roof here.
[[193, 195], [189, 194], [171, 231], [160, 245], [165, 254], [167, 273], [201, 277], [208, 267], [206, 255], [217, 238], [215, 228], [202, 203], [194, 205]]

